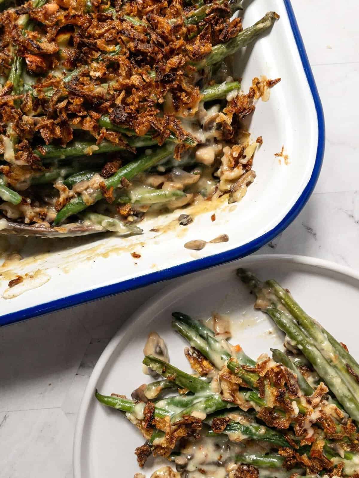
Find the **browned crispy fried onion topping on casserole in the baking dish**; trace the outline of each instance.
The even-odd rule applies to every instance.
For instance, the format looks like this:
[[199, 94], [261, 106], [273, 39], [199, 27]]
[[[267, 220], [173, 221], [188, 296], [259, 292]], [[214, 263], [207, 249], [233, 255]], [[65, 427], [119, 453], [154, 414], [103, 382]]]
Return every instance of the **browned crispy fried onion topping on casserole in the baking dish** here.
[[[11, 95], [10, 82], [0, 92], [0, 124], [11, 123], [19, 143], [31, 143], [39, 133], [46, 144], [65, 146], [76, 127], [98, 143], [107, 139], [126, 147], [118, 133], [99, 127], [99, 118], [106, 114], [115, 126], [138, 135], [148, 132], [159, 144], [170, 134], [179, 142], [196, 141], [177, 119], [193, 116], [201, 101], [190, 62], [236, 36], [242, 30], [241, 19], [229, 20], [226, 2], [213, 5], [197, 25], [185, 25], [189, 10], [180, 0], [120, 3], [117, 15], [105, 11], [106, 5], [99, 1], [91, 2], [90, 13], [84, 2], [75, 1], [51, 2], [41, 8], [26, 3], [0, 13], [0, 75], [8, 76], [16, 45], [17, 56], [37, 76], [31, 93]], [[26, 35], [18, 23], [23, 14], [35, 22]], [[139, 19], [139, 24], [123, 14]], [[236, 138], [238, 120], [254, 109], [253, 97], [251, 88], [248, 95], [229, 103], [222, 114], [226, 139]], [[158, 103], [164, 106], [163, 115]], [[29, 118], [36, 115], [38, 122], [29, 120], [25, 125], [23, 112]], [[28, 164], [39, 159], [31, 149], [18, 148], [15, 153]], [[180, 153], [179, 147], [176, 157]]]

